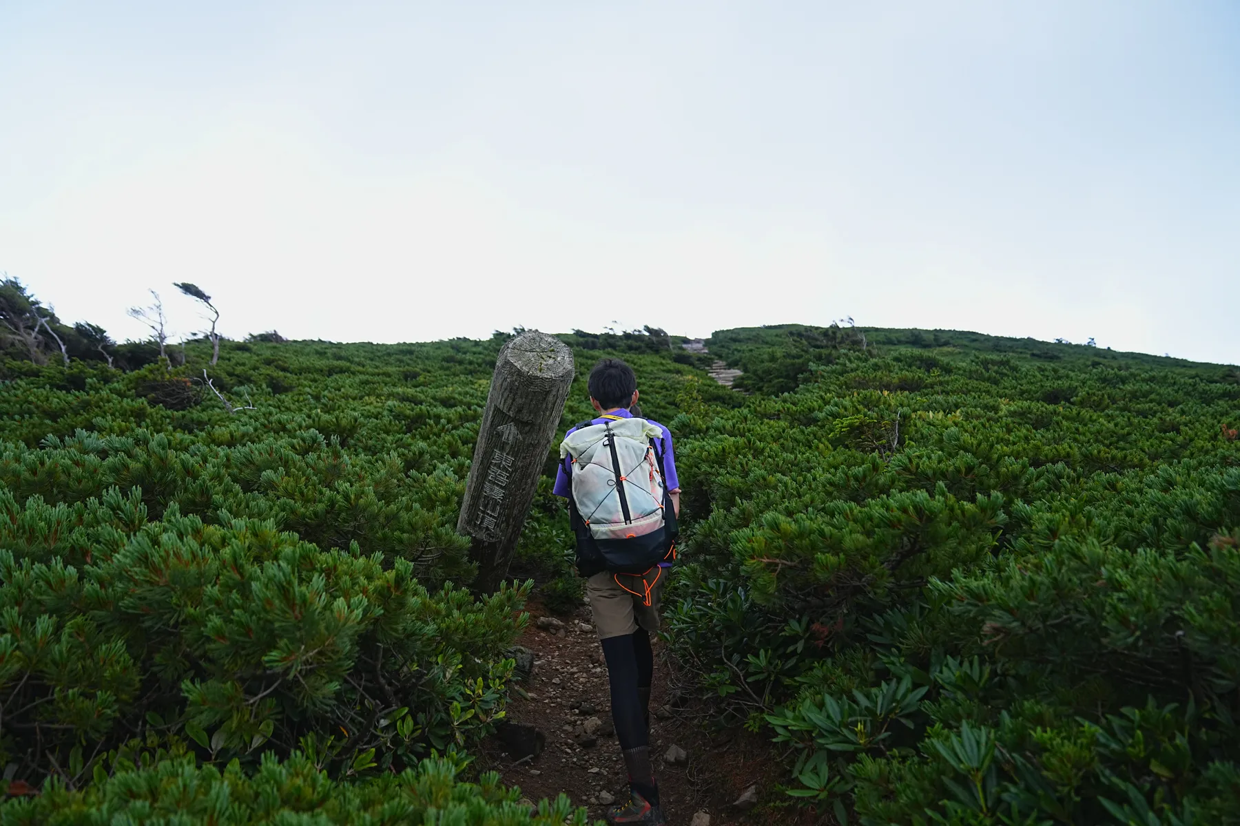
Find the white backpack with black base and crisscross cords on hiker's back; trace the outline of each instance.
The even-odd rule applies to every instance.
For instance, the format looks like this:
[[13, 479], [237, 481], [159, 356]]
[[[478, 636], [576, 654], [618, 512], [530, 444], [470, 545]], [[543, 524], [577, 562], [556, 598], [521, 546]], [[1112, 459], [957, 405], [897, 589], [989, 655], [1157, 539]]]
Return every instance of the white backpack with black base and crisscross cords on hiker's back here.
[[662, 432], [645, 419], [616, 419], [585, 425], [559, 446], [560, 459], [573, 459], [577, 514], [609, 571], [640, 573], [668, 552], [667, 492], [653, 442]]

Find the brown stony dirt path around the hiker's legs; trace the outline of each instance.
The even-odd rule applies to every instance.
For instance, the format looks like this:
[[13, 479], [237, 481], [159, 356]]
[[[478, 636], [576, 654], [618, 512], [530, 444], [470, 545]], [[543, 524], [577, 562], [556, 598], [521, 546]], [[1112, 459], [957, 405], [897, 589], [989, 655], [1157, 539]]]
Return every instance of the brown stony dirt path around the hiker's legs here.
[[[528, 611], [529, 628], [518, 644], [533, 651], [536, 665], [525, 684], [528, 698], [515, 692], [507, 719], [537, 727], [546, 746], [533, 759], [521, 759], [511, 741], [495, 737], [486, 742], [479, 767], [498, 772], [505, 784], [521, 788], [523, 798], [554, 799], [564, 793], [574, 804], [589, 807], [591, 821], [601, 819], [606, 801], [627, 794], [627, 778], [611, 729], [608, 674], [603, 649], [589, 625], [589, 607], [554, 617], [564, 628], [549, 630], [537, 625], [544, 615], [539, 604], [532, 603]], [[733, 805], [751, 784], [758, 784], [763, 799], [777, 796], [773, 791], [777, 767], [769, 746], [739, 731], [708, 734], [699, 724], [702, 710], [678, 696], [668, 682], [662, 643], [655, 641], [650, 741], [668, 824], [688, 826], [699, 811], [711, 815], [711, 826], [795, 822], [790, 811], [784, 812], [790, 816], [784, 820], [773, 819], [770, 811], [746, 812]], [[583, 731], [588, 721], [591, 729], [601, 724], [593, 733], [593, 743]], [[666, 763], [673, 744], [687, 753], [683, 764]]]

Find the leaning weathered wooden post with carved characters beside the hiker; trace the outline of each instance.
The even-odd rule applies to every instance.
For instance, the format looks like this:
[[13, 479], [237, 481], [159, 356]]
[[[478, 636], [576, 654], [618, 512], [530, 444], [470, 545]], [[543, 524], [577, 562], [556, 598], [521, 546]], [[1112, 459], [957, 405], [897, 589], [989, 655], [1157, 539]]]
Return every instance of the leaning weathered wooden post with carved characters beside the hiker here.
[[500, 350], [456, 521], [474, 540], [479, 591], [508, 572], [572, 384], [573, 352], [557, 338], [528, 331]]

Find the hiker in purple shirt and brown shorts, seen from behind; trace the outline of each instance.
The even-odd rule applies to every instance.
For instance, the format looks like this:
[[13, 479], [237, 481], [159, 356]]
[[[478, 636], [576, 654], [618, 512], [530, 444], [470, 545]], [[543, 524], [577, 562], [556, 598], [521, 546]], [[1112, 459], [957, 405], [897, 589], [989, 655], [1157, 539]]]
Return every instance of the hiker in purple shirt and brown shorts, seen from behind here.
[[560, 445], [557, 495], [568, 499], [577, 571], [603, 644], [611, 719], [629, 770], [630, 799], [611, 824], [665, 824], [650, 759], [650, 686], [660, 597], [675, 559], [681, 487], [672, 433], [634, 415], [637, 378], [603, 359], [588, 381], [598, 417], [569, 428]]

